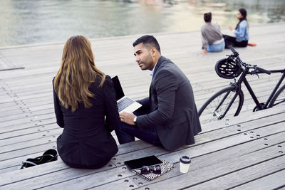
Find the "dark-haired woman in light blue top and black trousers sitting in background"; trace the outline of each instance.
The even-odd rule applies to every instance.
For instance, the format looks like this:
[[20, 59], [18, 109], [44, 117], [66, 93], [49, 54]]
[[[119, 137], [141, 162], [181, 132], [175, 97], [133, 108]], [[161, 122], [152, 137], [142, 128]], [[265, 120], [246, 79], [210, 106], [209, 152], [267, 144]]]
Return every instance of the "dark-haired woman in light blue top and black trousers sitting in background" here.
[[236, 28], [229, 26], [229, 30], [234, 32], [236, 37], [223, 35], [226, 43], [225, 48], [229, 48], [229, 45], [235, 47], [247, 47], [249, 41], [249, 24], [247, 23], [247, 11], [245, 9], [239, 9], [236, 14], [236, 18], [239, 19]]

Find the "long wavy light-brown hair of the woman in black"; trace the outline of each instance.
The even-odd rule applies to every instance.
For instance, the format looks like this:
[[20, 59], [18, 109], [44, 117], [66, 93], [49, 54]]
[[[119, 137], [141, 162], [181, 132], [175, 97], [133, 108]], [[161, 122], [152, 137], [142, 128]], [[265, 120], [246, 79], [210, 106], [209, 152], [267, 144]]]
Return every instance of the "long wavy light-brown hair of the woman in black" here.
[[63, 48], [61, 68], [53, 81], [54, 89], [63, 106], [74, 112], [79, 103], [91, 107], [89, 97], [95, 95], [88, 89], [96, 77], [101, 78], [103, 86], [105, 74], [96, 68], [90, 41], [84, 36], [72, 36]]

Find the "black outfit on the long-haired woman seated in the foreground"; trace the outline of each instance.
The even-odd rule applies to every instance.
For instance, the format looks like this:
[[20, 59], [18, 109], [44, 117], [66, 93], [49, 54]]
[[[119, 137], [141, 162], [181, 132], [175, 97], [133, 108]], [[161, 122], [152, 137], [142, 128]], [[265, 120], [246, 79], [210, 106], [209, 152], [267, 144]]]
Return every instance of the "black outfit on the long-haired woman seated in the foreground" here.
[[106, 76], [102, 88], [100, 78], [89, 87], [95, 95], [90, 98], [92, 107], [79, 105], [75, 112], [66, 109], [58, 100], [53, 88], [56, 121], [63, 128], [57, 139], [58, 154], [68, 166], [96, 169], [103, 167], [118, 152], [115, 139], [110, 134], [120, 125], [115, 90], [110, 76]]

